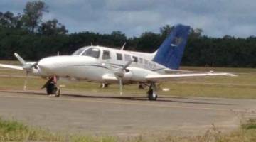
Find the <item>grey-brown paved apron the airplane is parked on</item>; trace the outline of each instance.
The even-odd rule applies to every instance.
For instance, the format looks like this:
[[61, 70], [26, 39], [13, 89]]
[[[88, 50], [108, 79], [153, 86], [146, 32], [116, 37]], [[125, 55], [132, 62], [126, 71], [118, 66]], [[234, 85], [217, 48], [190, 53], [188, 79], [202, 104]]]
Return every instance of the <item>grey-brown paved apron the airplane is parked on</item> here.
[[0, 91], [0, 116], [66, 133], [138, 136], [186, 135], [213, 128], [231, 130], [240, 119], [256, 117], [256, 100], [204, 97], [159, 97], [43, 91]]

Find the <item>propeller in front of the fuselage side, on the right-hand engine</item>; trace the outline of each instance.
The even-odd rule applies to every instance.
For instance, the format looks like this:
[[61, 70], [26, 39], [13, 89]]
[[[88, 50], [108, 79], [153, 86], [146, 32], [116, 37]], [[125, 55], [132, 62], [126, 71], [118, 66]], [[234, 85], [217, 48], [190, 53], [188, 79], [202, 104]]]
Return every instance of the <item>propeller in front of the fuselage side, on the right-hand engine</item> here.
[[129, 65], [132, 64], [134, 60], [130, 60], [129, 62], [127, 62], [124, 67], [120, 67], [117, 68], [116, 70], [114, 70], [114, 75], [117, 77], [117, 79], [119, 80], [119, 91], [120, 91], [120, 95], [122, 95], [122, 78], [124, 77], [125, 74], [125, 70], [127, 67], [129, 67]]

